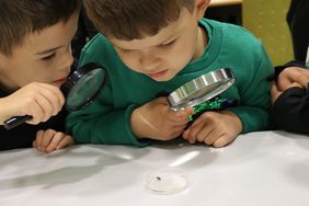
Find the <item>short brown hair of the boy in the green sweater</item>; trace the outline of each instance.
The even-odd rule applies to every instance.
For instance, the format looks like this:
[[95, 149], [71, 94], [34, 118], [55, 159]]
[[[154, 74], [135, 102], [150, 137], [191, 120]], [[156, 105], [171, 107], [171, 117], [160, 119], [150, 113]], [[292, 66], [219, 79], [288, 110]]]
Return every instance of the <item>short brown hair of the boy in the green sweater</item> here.
[[103, 34], [131, 41], [156, 35], [176, 21], [183, 8], [193, 12], [195, 0], [84, 0], [89, 18]]

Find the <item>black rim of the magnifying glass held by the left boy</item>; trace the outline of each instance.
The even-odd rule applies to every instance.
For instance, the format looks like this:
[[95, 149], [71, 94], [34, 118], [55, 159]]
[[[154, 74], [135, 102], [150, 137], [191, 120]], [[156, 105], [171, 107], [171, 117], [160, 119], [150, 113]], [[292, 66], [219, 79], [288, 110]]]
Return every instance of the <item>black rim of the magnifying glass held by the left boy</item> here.
[[[100, 87], [98, 88], [98, 90], [91, 95], [88, 96], [88, 99], [84, 101], [83, 104], [81, 104], [80, 106], [77, 106], [75, 108], [69, 107], [68, 103], [66, 102], [66, 108], [68, 111], [78, 111], [80, 108], [87, 107], [92, 101], [93, 99], [95, 99], [95, 96], [99, 94], [99, 92], [101, 91], [102, 88], [104, 88], [105, 83], [106, 83], [106, 79], [107, 79], [107, 72], [104, 70], [104, 68], [102, 66], [100, 66], [96, 62], [89, 62], [82, 67], [80, 67], [79, 69], [77, 69], [76, 71], [73, 71], [70, 76], [69, 79], [66, 81], [66, 83], [64, 83], [61, 85], [61, 91], [65, 94], [65, 96], [68, 96], [69, 92], [71, 91], [72, 87], [76, 85], [76, 83], [82, 78], [84, 77], [84, 75], [89, 73], [92, 70], [95, 69], [102, 69], [104, 71], [104, 79], [102, 80], [102, 83], [100, 84]], [[67, 100], [66, 100], [67, 101]]]

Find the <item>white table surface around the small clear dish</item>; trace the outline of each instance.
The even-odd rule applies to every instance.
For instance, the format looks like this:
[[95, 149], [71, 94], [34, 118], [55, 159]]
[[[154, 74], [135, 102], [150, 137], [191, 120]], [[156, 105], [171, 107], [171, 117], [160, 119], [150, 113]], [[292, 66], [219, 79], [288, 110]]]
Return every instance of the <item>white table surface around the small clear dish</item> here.
[[[243, 135], [220, 149], [174, 142], [2, 151], [0, 167], [0, 206], [309, 205], [309, 137], [284, 131]], [[186, 173], [187, 190], [146, 188], [149, 173], [170, 167]]]

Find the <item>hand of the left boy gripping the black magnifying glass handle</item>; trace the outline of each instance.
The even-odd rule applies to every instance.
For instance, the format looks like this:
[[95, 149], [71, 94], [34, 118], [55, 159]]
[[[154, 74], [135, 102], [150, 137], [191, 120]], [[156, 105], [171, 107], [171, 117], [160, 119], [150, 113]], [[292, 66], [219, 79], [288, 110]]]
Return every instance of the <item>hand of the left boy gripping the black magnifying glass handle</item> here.
[[46, 122], [56, 115], [65, 103], [65, 96], [55, 85], [33, 82], [0, 99], [0, 124], [12, 116], [31, 115], [28, 124]]

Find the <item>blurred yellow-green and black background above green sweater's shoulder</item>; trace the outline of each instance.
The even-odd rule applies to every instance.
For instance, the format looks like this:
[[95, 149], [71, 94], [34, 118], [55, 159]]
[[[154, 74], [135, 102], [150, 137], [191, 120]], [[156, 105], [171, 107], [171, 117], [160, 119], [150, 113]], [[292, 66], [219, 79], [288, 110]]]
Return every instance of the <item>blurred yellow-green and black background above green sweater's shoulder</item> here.
[[244, 26], [263, 42], [274, 65], [284, 65], [294, 59], [286, 22], [290, 1], [211, 0], [205, 18]]

